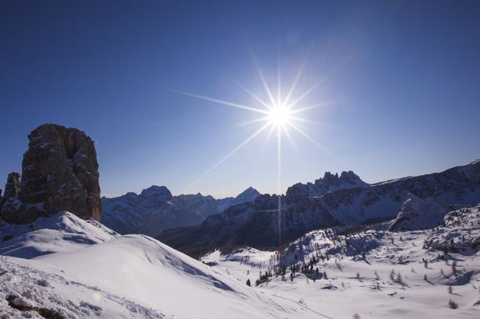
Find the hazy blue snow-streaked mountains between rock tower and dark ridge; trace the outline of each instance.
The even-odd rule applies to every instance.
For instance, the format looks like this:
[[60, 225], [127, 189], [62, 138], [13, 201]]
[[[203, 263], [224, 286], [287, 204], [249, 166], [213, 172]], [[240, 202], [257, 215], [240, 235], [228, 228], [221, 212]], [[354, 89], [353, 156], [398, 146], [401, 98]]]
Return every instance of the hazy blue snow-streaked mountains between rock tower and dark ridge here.
[[231, 205], [254, 201], [260, 193], [249, 187], [237, 197], [214, 199], [202, 194], [172, 196], [165, 186], [153, 185], [140, 195], [129, 192], [102, 198], [102, 223], [121, 234], [158, 235], [167, 228], [200, 224]]

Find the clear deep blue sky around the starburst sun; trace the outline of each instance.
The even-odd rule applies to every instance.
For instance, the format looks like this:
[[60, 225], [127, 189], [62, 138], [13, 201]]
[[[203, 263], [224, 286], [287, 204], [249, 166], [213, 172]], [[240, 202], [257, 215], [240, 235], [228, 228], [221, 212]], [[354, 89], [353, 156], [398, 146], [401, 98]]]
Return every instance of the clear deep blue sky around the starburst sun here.
[[[277, 192], [265, 130], [197, 180], [261, 123], [166, 88], [262, 107], [252, 56], [286, 94], [302, 63], [301, 129], [282, 141], [285, 192], [324, 171], [367, 182], [480, 157], [480, 1], [1, 1], [0, 188], [43, 123], [96, 141], [105, 196]], [[280, 56], [280, 63], [278, 57]], [[276, 92], [276, 91], [275, 91]], [[276, 93], [275, 93], [276, 94]], [[196, 180], [196, 181], [195, 181]]]

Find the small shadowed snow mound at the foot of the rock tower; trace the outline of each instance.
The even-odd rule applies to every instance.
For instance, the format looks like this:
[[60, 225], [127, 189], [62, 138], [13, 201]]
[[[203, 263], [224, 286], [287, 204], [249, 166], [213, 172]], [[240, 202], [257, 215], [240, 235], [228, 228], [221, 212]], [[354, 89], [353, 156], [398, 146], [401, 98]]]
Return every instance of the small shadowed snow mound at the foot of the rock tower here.
[[118, 236], [94, 219], [85, 221], [70, 212], [39, 218], [31, 224], [1, 222], [0, 254], [34, 258], [59, 251], [74, 251]]

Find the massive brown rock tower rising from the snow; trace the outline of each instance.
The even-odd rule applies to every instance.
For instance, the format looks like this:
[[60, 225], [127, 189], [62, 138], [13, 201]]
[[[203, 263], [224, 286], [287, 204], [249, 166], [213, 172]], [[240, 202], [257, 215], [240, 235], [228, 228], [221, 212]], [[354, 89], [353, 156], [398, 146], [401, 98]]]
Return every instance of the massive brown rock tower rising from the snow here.
[[76, 128], [37, 127], [29, 134], [20, 190], [20, 196], [11, 197], [1, 208], [6, 221], [28, 223], [61, 210], [100, 220], [98, 163], [91, 138]]

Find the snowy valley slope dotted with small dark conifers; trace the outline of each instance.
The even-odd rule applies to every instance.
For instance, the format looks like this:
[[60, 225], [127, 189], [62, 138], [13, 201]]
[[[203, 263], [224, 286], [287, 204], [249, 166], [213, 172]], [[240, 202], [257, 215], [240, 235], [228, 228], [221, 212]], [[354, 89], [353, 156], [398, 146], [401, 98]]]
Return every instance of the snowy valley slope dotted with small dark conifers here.
[[[458, 229], [458, 215], [451, 214], [456, 228], [449, 234], [456, 242], [464, 235], [468, 238], [469, 231], [473, 237], [478, 235], [477, 210], [474, 215], [463, 215], [470, 220], [463, 230]], [[202, 260], [242, 282], [264, 281], [257, 290], [297, 301], [305, 313], [317, 318], [352, 318], [354, 313], [368, 319], [478, 318], [478, 249], [473, 254], [469, 249], [444, 255], [442, 250], [424, 246], [437, 230], [375, 229], [357, 232], [339, 226], [307, 233], [281, 254], [239, 248], [225, 255], [213, 251]], [[269, 281], [265, 281], [266, 272], [272, 274]], [[450, 301], [458, 309], [451, 309]]]

